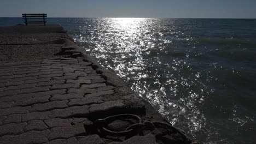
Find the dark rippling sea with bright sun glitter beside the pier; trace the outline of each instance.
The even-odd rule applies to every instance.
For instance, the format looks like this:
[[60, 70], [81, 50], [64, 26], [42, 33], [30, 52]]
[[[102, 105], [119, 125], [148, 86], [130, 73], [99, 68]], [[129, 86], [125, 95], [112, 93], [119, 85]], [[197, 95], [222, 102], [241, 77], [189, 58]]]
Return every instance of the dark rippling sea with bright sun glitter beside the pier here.
[[[0, 26], [22, 23], [1, 17]], [[256, 143], [256, 19], [48, 18], [201, 143]]]

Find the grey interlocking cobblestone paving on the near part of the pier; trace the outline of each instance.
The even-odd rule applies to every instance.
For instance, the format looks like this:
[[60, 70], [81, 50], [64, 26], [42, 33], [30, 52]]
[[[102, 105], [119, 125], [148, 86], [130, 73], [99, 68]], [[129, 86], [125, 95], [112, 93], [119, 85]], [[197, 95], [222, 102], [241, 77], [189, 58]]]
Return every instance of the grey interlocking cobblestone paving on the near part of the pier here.
[[0, 143], [103, 143], [86, 136], [91, 113], [120, 109], [122, 100], [82, 58], [0, 63]]

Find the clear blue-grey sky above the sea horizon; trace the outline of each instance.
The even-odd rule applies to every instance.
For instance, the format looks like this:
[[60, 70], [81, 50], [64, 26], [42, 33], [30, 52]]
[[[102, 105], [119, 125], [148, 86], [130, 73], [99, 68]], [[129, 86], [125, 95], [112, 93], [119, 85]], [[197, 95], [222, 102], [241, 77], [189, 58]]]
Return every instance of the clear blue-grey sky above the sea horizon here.
[[256, 0], [0, 0], [0, 17], [256, 18]]

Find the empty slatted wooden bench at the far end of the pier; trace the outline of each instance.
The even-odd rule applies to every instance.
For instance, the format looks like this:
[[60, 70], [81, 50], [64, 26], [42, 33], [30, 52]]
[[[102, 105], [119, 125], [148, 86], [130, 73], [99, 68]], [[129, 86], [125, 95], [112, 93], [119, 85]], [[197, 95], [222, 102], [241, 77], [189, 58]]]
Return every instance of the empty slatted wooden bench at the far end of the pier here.
[[24, 19], [26, 26], [28, 25], [28, 23], [32, 23], [32, 24], [44, 23], [44, 26], [45, 26], [46, 17], [47, 17], [47, 14], [22, 14], [22, 18]]

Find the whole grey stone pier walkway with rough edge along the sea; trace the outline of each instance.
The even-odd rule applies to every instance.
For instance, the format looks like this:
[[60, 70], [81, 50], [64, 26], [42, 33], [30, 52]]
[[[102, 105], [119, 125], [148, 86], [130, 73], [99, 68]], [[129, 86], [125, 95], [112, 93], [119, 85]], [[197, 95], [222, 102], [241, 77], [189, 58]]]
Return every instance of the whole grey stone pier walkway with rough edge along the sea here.
[[[160, 141], [156, 132], [130, 139], [101, 134], [98, 118], [132, 113], [148, 121], [165, 119], [61, 26], [0, 27], [0, 32], [1, 144], [188, 143], [174, 132]], [[127, 126], [120, 119], [112, 124], [119, 130]]]

